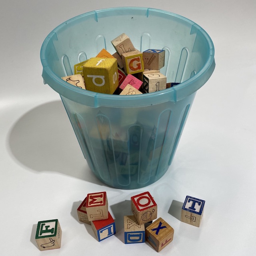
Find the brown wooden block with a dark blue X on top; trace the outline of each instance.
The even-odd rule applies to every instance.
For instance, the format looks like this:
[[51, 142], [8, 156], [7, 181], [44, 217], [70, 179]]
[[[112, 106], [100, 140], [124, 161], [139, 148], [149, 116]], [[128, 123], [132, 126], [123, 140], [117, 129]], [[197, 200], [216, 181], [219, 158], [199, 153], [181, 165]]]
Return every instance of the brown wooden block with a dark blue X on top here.
[[146, 241], [160, 252], [173, 240], [174, 229], [162, 218], [158, 218], [148, 227], [146, 227]]

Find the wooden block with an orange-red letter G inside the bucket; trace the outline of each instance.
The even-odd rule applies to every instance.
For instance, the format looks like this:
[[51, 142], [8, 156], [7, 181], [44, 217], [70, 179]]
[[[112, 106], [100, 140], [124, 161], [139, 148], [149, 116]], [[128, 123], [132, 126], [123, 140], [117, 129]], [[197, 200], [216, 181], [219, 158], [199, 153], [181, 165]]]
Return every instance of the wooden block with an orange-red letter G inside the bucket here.
[[123, 53], [122, 61], [126, 74], [135, 74], [144, 71], [142, 52], [138, 50]]

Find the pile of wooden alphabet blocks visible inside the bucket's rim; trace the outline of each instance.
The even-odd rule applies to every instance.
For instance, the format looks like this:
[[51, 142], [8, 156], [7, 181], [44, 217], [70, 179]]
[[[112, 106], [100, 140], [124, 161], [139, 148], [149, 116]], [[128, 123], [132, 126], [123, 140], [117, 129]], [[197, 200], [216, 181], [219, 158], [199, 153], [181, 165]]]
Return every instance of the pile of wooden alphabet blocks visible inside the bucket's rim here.
[[75, 64], [74, 75], [62, 79], [93, 92], [120, 95], [156, 92], [178, 84], [167, 84], [166, 76], [160, 73], [165, 50], [140, 52], [124, 33], [111, 43], [114, 54], [102, 49], [97, 56]]

